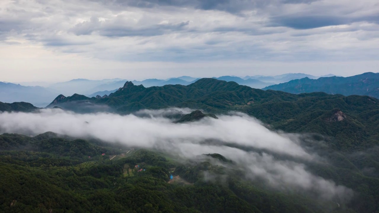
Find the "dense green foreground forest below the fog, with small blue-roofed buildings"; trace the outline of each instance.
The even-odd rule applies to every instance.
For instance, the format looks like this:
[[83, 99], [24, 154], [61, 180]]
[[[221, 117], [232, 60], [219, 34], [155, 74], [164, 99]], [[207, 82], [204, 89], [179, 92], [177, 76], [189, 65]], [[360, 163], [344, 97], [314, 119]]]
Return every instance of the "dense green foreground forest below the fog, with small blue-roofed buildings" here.
[[[358, 192], [346, 203], [273, 190], [244, 179], [241, 170], [213, 164], [214, 160], [233, 164], [217, 153], [183, 162], [160, 152], [54, 133], [3, 134], [0, 148], [1, 212], [379, 211], [379, 179], [360, 173], [354, 168], [357, 162], [343, 153], [336, 155], [339, 165], [309, 166]], [[204, 179], [205, 173], [214, 179]]]

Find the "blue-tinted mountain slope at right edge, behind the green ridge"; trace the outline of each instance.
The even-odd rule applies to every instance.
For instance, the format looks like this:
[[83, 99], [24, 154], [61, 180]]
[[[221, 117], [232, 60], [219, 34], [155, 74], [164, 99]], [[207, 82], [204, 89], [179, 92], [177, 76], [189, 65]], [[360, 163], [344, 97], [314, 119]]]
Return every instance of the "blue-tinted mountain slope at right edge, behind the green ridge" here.
[[379, 98], [379, 73], [366, 72], [351, 77], [302, 78], [268, 86], [264, 90], [280, 90], [294, 94], [326, 92], [345, 96], [362, 95]]

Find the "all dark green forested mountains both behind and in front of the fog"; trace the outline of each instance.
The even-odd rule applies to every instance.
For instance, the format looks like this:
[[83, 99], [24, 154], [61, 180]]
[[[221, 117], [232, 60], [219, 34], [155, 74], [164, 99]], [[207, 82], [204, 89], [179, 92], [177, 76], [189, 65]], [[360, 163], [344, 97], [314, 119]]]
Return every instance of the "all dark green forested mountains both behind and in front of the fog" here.
[[[28, 103], [0, 103], [0, 110], [1, 107], [3, 111], [37, 109]], [[217, 121], [215, 114], [230, 111], [246, 113], [274, 132], [297, 133], [298, 143], [317, 156], [296, 158], [296, 162], [323, 179], [351, 188], [354, 196], [351, 200], [338, 198], [324, 202], [301, 190], [265, 187], [259, 179], [245, 180], [243, 170], [238, 171], [233, 161], [218, 153], [206, 154], [211, 159], [205, 161], [182, 164], [175, 157], [154, 150], [129, 147], [125, 151], [124, 147], [116, 149], [113, 144], [96, 139], [87, 141], [54, 133], [34, 137], [3, 134], [0, 135], [0, 178], [1, 189], [8, 190], [3, 190], [5, 204], [0, 204], [0, 210], [194, 213], [371, 213], [379, 210], [379, 100], [373, 97], [325, 92], [291, 94], [202, 78], [187, 86], [147, 88], [127, 81], [108, 96], [59, 95], [48, 107], [79, 113], [97, 110], [119, 114], [169, 107], [194, 109], [172, 125], [185, 125], [205, 117]], [[246, 128], [250, 131], [249, 126]], [[260, 156], [270, 153], [249, 144], [233, 146]], [[294, 160], [280, 154], [273, 156], [283, 164]], [[170, 180], [172, 174], [175, 179]], [[305, 182], [313, 181], [310, 178]]]

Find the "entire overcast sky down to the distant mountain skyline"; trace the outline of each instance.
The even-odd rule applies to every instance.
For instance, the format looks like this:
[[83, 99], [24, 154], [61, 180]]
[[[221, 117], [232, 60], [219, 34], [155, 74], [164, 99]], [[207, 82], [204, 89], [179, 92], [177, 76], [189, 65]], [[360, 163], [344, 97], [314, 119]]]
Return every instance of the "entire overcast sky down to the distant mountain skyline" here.
[[378, 72], [377, 0], [1, 0], [0, 81]]

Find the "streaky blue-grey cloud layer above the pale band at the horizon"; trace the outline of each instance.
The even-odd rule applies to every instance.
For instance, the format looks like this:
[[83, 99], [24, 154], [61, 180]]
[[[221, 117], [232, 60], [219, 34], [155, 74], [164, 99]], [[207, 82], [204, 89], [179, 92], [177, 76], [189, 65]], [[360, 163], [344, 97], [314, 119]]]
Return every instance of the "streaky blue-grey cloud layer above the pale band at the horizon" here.
[[93, 61], [362, 61], [377, 60], [379, 47], [379, 11], [373, 0], [3, 4], [0, 42], [14, 46], [12, 55], [21, 58], [25, 51], [17, 47], [25, 45]]

